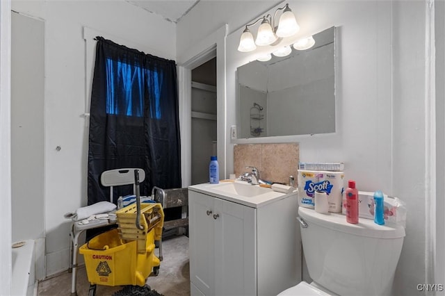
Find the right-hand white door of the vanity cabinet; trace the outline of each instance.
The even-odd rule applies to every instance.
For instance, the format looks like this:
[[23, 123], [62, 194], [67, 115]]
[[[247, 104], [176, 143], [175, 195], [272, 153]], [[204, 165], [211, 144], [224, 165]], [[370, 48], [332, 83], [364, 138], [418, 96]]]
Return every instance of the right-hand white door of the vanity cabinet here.
[[257, 295], [256, 210], [215, 198], [215, 294]]

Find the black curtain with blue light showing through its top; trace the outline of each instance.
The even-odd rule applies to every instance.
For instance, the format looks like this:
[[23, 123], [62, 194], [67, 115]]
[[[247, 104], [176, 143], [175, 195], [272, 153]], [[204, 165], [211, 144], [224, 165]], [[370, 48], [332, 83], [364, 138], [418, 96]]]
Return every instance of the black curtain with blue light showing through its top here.
[[[105, 170], [140, 167], [153, 186], [181, 187], [176, 65], [97, 37], [88, 147], [88, 204], [109, 200], [100, 183]], [[123, 186], [121, 186], [123, 187]], [[119, 195], [132, 187], [116, 188]]]

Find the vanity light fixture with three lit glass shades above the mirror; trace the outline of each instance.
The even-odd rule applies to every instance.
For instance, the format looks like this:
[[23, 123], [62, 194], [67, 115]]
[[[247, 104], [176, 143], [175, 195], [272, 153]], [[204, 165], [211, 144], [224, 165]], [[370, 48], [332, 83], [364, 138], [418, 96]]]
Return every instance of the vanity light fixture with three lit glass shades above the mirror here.
[[[277, 17], [279, 10], [283, 10], [283, 13], [278, 22], [278, 26], [275, 27], [275, 18]], [[257, 38], [254, 41], [249, 26], [254, 26], [259, 21], [261, 21], [261, 25], [258, 28]], [[257, 45], [265, 46], [273, 44], [278, 38], [286, 38], [295, 35], [299, 30], [300, 26], [297, 24], [295, 15], [293, 15], [291, 8], [289, 8], [289, 4], [286, 3], [285, 6], [275, 10], [273, 17], [269, 14], [260, 17], [251, 24], [246, 24], [239, 40], [238, 51], [253, 51], [257, 48]]]

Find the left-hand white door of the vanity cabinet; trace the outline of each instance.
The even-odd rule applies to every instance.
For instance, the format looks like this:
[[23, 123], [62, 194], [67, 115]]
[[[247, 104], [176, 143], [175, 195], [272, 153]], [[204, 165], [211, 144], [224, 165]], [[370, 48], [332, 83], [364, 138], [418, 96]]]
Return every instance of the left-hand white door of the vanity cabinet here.
[[213, 199], [188, 191], [190, 280], [205, 295], [215, 295]]

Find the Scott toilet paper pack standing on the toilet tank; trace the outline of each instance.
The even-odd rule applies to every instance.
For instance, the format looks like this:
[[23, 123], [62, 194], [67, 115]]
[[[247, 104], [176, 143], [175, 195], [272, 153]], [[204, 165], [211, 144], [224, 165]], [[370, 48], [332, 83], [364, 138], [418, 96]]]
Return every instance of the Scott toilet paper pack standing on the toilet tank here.
[[326, 192], [329, 211], [340, 213], [343, 178], [343, 172], [298, 170], [298, 204], [315, 208], [315, 192]]

